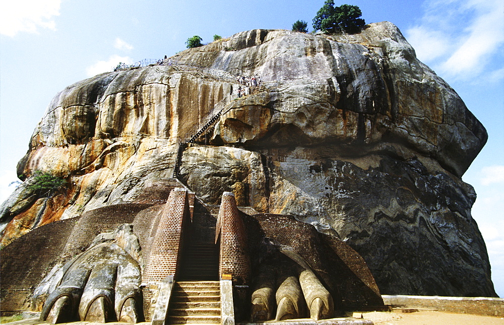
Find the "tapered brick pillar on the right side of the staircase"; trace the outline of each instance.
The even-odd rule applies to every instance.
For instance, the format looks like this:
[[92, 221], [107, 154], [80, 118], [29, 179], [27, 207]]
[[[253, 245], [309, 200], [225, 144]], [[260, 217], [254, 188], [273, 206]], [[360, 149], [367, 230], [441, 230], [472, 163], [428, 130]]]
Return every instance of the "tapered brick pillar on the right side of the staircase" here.
[[216, 242], [220, 240], [219, 276], [231, 274], [234, 285], [244, 285], [250, 279], [250, 257], [247, 237], [233, 193], [222, 194], [217, 218]]

